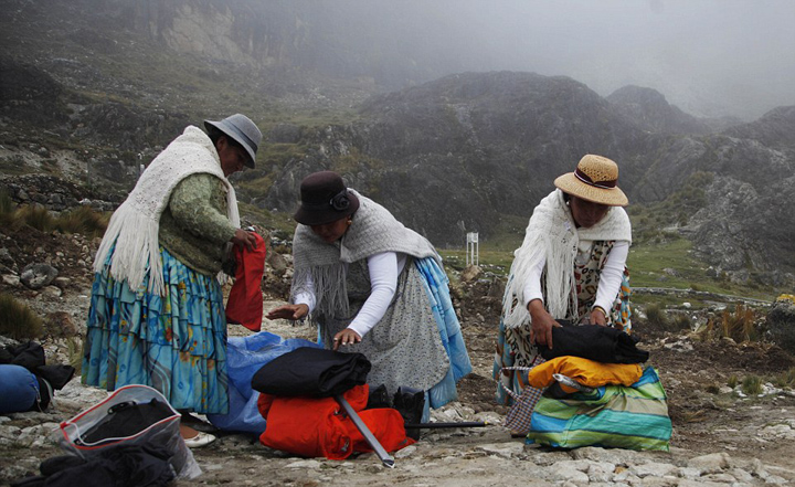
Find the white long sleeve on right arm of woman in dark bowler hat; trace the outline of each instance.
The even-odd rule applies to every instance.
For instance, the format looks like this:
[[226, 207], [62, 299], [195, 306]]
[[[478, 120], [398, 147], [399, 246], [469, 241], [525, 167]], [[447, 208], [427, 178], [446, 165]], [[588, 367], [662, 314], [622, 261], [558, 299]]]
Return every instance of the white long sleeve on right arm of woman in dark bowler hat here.
[[364, 338], [383, 318], [395, 292], [398, 290], [398, 276], [405, 266], [405, 254], [383, 252], [368, 257], [368, 272], [370, 273], [370, 296], [357, 314], [348, 328]]

